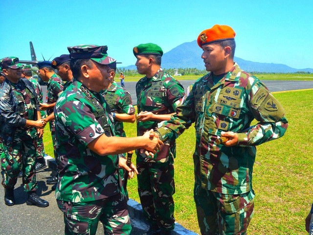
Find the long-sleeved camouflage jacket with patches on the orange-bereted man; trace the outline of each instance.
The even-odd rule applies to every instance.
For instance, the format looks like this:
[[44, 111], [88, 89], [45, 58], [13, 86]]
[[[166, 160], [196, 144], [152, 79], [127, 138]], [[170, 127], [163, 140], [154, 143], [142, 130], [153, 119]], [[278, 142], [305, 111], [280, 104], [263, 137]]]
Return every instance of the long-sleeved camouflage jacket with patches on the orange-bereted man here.
[[[177, 110], [158, 129], [161, 139], [175, 140], [195, 122], [196, 183], [224, 194], [251, 189], [255, 145], [282, 137], [288, 126], [281, 104], [259, 79], [237, 64], [216, 85], [212, 73], [198, 79]], [[254, 118], [258, 123], [250, 127]], [[239, 133], [237, 146], [216, 144], [222, 131]]]

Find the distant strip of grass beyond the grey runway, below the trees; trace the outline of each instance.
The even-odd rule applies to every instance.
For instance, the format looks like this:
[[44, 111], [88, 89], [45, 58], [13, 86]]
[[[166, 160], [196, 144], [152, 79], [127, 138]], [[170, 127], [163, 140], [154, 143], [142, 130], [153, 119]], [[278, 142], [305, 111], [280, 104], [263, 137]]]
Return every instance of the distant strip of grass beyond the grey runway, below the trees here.
[[[204, 74], [203, 74], [204, 75]], [[260, 73], [253, 74], [260, 80], [303, 80], [303, 81], [313, 81], [313, 73]], [[136, 82], [143, 75], [125, 76], [125, 82]], [[201, 75], [183, 75], [174, 76], [177, 80], [197, 80]], [[119, 78], [115, 76], [115, 81], [119, 82]]]

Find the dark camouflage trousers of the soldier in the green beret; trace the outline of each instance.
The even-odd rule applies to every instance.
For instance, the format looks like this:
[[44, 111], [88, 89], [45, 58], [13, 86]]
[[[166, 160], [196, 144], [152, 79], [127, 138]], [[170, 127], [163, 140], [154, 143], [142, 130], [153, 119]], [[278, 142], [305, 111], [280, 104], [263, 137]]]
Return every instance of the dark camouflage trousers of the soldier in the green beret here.
[[146, 219], [163, 230], [173, 230], [174, 160], [165, 163], [137, 161], [136, 164], [138, 193]]

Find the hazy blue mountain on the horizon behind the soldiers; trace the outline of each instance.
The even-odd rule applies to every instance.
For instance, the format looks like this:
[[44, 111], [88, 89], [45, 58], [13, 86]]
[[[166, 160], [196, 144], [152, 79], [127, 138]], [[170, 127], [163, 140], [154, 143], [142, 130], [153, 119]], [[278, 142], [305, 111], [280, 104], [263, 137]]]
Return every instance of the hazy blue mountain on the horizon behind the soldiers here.
[[[178, 47], [171, 49], [162, 56], [162, 68], [163, 69], [179, 69], [179, 68], [197, 68], [200, 70], [205, 69], [203, 60], [201, 59], [202, 50], [199, 48], [197, 41], [190, 43], [183, 43]], [[313, 69], [294, 69], [283, 64], [274, 63], [259, 63], [241, 59], [239, 57], [234, 58], [234, 61], [238, 63], [240, 68], [245, 71], [258, 71], [258, 72], [313, 72]], [[127, 70], [135, 70], [134, 65], [124, 67]]]

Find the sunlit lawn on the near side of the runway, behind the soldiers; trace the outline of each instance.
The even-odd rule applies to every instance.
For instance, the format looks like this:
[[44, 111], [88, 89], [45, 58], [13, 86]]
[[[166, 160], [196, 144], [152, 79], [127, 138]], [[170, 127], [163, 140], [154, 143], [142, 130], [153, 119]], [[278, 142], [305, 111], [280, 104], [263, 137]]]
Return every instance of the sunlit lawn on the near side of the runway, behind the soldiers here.
[[[253, 169], [255, 209], [248, 234], [305, 235], [304, 219], [313, 201], [313, 90], [274, 93], [274, 96], [285, 108], [289, 127], [281, 139], [257, 147]], [[45, 148], [53, 156], [47, 128]], [[129, 137], [136, 136], [135, 124], [126, 123], [125, 131]], [[193, 201], [194, 147], [192, 126], [177, 140], [175, 218], [200, 234]], [[128, 190], [130, 197], [139, 202], [136, 178], [128, 181]]]

